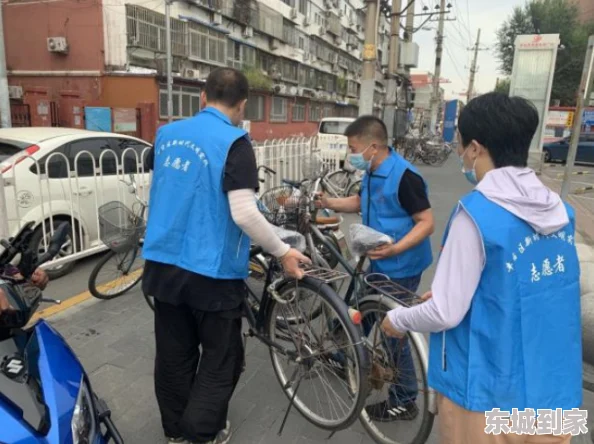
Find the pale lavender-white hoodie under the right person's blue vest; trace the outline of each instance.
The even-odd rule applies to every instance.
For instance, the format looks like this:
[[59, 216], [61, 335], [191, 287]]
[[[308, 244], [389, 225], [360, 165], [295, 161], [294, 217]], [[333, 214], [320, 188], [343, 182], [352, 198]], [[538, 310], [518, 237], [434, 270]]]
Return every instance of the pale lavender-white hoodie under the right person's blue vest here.
[[[528, 223], [539, 234], [554, 233], [569, 223], [559, 195], [543, 185], [530, 168], [489, 171], [476, 190]], [[456, 327], [470, 309], [485, 264], [478, 228], [464, 211], [450, 226], [431, 285], [433, 297], [413, 308], [389, 313], [394, 328], [430, 333]]]

